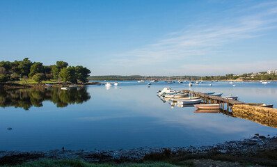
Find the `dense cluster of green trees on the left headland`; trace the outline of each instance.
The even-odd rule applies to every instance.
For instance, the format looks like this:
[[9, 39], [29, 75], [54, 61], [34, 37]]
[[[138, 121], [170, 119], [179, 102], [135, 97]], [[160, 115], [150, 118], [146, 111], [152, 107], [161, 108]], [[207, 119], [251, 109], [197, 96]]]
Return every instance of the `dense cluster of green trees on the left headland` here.
[[90, 74], [88, 68], [81, 65], [68, 66], [65, 61], [57, 61], [56, 65], [43, 65], [40, 62], [31, 62], [29, 58], [23, 61], [1, 61], [0, 62], [0, 83], [7, 81], [19, 81], [33, 79], [40, 81], [56, 79], [58, 81], [77, 84], [87, 82]]

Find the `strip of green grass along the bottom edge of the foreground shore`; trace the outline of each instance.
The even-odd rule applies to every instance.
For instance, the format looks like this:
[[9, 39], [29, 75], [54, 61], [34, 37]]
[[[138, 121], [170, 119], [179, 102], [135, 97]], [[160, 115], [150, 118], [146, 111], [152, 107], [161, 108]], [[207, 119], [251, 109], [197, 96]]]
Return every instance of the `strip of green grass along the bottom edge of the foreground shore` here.
[[[143, 163], [131, 163], [125, 162], [116, 164], [115, 162], [106, 162], [106, 163], [88, 163], [81, 161], [79, 159], [63, 159], [63, 160], [52, 160], [52, 159], [42, 159], [39, 161], [26, 162], [24, 164], [19, 164], [13, 167], [175, 167], [176, 165], [168, 164], [166, 162], [143, 162]], [[184, 165], [181, 165], [184, 166]], [[8, 166], [1, 166], [8, 167]]]

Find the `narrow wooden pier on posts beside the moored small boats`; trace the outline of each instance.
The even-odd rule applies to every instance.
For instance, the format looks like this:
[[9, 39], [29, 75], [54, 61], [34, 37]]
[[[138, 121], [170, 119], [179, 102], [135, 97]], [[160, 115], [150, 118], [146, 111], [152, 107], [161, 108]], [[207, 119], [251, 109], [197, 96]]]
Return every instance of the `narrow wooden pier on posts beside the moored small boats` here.
[[194, 92], [191, 90], [183, 90], [184, 93], [189, 93], [190, 96], [195, 97], [201, 97], [202, 102], [205, 104], [220, 104], [221, 109], [224, 110], [224, 104], [227, 104], [226, 108], [227, 110], [232, 109], [232, 106], [235, 104], [244, 104], [244, 102], [239, 102], [238, 100], [230, 100], [223, 97], [213, 96], [213, 95], [207, 95], [205, 93], [200, 92]]

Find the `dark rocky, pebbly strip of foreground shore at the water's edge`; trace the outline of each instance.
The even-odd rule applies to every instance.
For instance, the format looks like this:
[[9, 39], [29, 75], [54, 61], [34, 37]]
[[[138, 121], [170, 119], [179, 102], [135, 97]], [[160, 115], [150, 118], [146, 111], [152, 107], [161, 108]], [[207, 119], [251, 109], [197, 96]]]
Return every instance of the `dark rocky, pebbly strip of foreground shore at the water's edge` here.
[[[251, 156], [261, 150], [274, 150], [277, 148], [277, 137], [254, 136], [242, 141], [229, 141], [210, 146], [174, 147], [171, 154], [187, 152], [191, 154], [206, 154], [208, 152], [221, 152], [227, 155], [244, 154]], [[50, 151], [0, 151], [0, 165], [33, 161], [37, 159], [81, 159], [89, 162], [97, 161], [139, 161], [145, 154], [163, 152], [166, 148], [137, 148], [120, 150], [50, 150]]]

